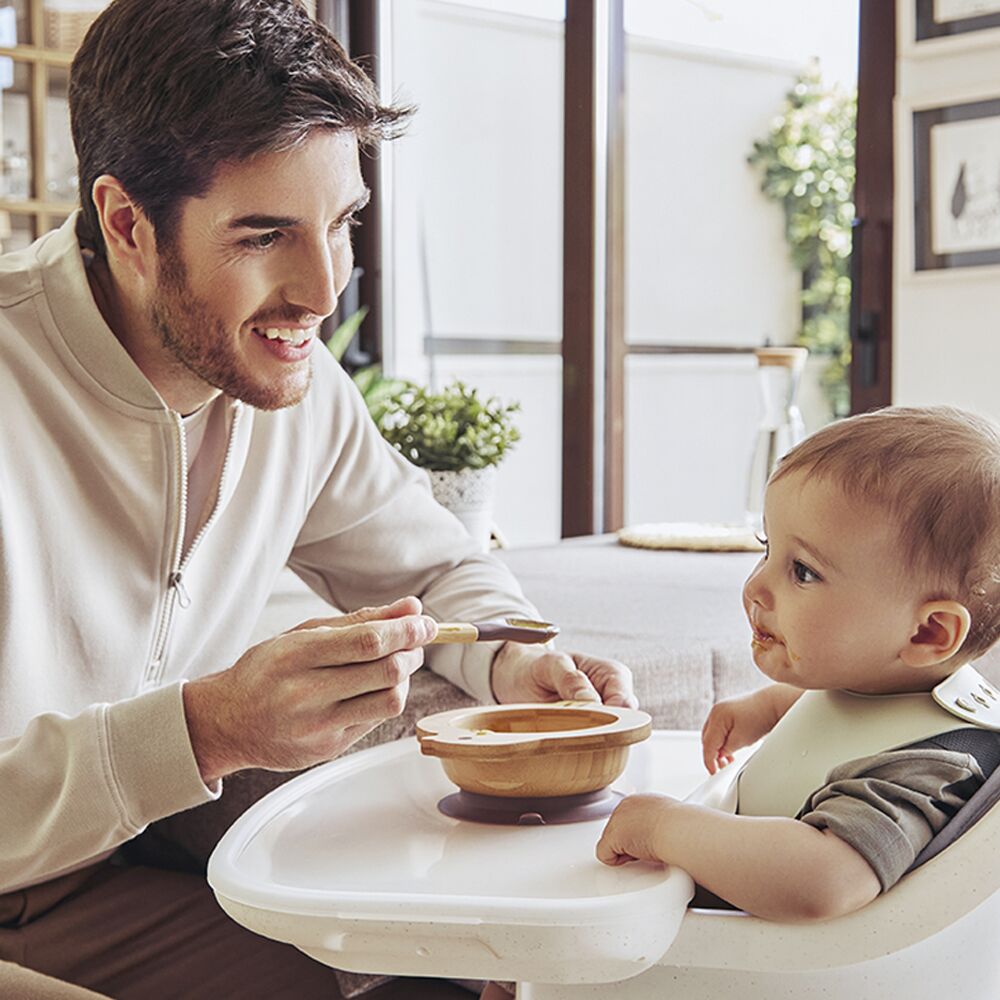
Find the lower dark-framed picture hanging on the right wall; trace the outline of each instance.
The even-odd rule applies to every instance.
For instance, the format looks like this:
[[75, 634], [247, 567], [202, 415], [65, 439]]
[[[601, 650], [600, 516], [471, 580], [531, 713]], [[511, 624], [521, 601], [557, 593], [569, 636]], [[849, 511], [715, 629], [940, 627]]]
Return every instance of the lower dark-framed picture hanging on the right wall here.
[[1000, 264], [1000, 97], [913, 113], [914, 266]]

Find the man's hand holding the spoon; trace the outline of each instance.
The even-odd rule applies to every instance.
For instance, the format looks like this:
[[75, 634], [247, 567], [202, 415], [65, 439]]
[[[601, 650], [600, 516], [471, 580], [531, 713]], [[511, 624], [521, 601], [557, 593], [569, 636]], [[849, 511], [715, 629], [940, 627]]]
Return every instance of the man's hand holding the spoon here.
[[420, 602], [314, 619], [184, 686], [202, 778], [248, 767], [294, 771], [343, 753], [406, 703], [410, 675], [437, 634]]

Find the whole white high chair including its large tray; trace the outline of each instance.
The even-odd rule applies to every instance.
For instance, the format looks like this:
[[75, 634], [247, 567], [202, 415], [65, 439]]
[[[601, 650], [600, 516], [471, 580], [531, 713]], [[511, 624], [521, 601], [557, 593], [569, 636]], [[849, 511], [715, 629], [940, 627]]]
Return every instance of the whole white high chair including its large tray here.
[[[690, 797], [719, 801], [736, 771]], [[683, 797], [699, 772], [696, 733], [654, 733], [614, 787]], [[238, 922], [319, 961], [516, 979], [521, 1000], [1000, 996], [1000, 806], [864, 909], [790, 925], [689, 910], [676, 868], [601, 866], [603, 821], [442, 816], [451, 790], [415, 740], [324, 765], [234, 824], [209, 882]]]

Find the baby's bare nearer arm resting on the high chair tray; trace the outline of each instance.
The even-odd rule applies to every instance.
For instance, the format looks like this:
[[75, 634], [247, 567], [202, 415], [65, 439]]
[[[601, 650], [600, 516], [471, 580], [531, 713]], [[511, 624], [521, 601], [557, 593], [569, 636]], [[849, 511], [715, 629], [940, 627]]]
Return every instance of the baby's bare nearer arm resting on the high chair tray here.
[[666, 795], [630, 795], [597, 845], [608, 865], [662, 861], [768, 920], [827, 920], [881, 889], [867, 861], [829, 830], [784, 817], [734, 816]]

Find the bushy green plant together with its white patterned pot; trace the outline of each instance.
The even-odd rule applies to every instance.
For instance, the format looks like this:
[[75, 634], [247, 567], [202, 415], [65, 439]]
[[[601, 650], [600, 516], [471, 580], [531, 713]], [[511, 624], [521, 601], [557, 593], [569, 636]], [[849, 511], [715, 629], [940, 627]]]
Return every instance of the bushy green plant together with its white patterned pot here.
[[380, 400], [375, 418], [382, 436], [427, 470], [434, 498], [483, 549], [490, 541], [496, 467], [521, 436], [511, 416], [519, 409], [456, 379], [440, 392], [406, 383]]

